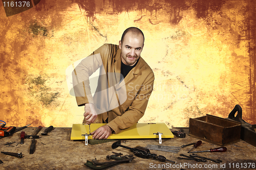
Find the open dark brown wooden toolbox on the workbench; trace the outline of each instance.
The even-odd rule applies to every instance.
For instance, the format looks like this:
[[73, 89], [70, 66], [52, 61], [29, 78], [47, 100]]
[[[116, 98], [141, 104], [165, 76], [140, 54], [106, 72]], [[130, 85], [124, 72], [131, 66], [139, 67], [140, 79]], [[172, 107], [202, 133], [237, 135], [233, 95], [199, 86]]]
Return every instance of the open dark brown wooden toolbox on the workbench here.
[[189, 119], [189, 136], [211, 143], [226, 145], [240, 140], [241, 124], [218, 116]]

